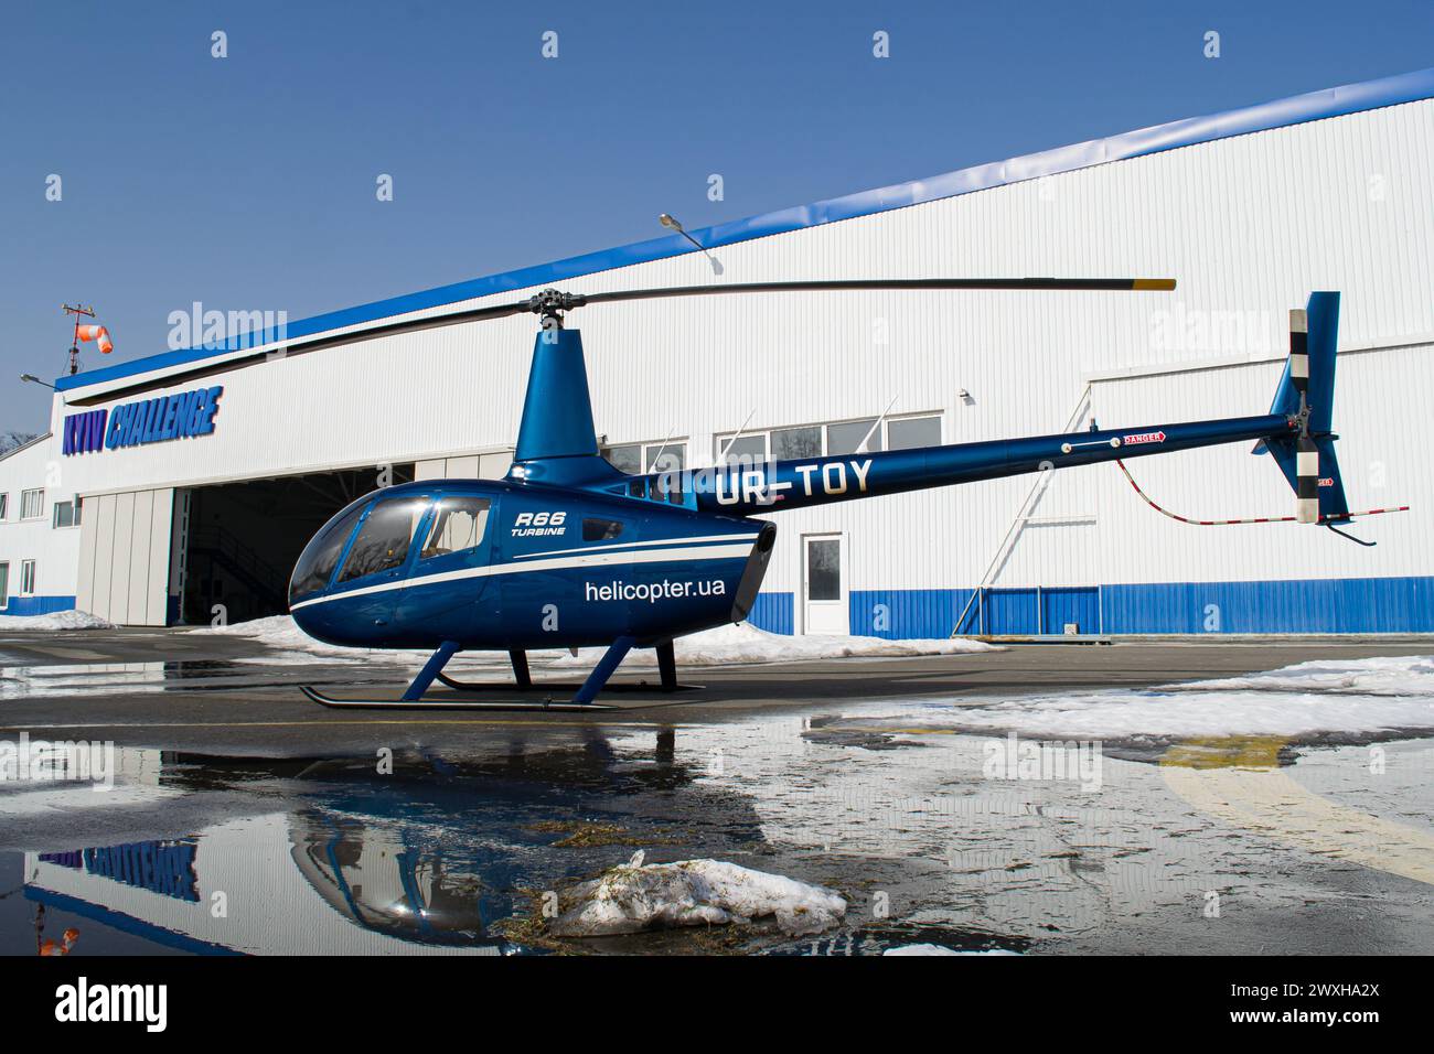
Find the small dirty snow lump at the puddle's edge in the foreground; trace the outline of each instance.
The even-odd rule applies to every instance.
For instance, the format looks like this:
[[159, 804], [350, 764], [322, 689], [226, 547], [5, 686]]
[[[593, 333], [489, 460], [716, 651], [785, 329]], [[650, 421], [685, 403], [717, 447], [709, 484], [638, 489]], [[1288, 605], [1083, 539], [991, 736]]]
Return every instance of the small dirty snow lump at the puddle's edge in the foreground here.
[[549, 926], [554, 936], [608, 936], [668, 926], [727, 925], [773, 919], [786, 934], [817, 934], [846, 915], [830, 889], [724, 860], [627, 866], [566, 891], [572, 905]]

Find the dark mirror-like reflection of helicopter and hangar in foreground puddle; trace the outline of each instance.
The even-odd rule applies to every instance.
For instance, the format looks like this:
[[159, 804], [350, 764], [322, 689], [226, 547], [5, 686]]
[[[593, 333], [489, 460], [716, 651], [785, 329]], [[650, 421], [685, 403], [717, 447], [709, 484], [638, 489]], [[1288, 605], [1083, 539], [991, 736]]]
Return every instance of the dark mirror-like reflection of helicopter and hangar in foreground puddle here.
[[[663, 741], [670, 747], [671, 737]], [[526, 909], [523, 891], [625, 859], [630, 842], [661, 840], [648, 819], [604, 809], [604, 797], [638, 800], [690, 783], [667, 747], [645, 763], [615, 756], [601, 739], [488, 759], [400, 754], [389, 777], [367, 760], [123, 751], [139, 777], [116, 792], [126, 806], [239, 789], [291, 807], [185, 837], [30, 852], [24, 896], [188, 952], [521, 951], [493, 924]], [[0, 810], [19, 816], [33, 804], [24, 799], [49, 793], [11, 792]], [[93, 807], [103, 812], [103, 802]], [[601, 825], [608, 837], [571, 840], [584, 820], [605, 815], [621, 816]], [[559, 842], [581, 850], [554, 852]], [[9, 944], [13, 934], [4, 936]]]

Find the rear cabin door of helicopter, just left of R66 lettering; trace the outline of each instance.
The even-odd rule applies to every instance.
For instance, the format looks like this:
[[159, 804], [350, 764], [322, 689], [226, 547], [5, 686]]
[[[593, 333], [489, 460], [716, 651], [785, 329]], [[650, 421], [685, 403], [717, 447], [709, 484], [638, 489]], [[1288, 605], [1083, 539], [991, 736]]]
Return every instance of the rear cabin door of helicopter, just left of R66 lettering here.
[[[419, 558], [409, 584], [399, 597], [404, 622], [466, 608], [488, 587], [485, 574], [492, 558], [492, 499], [449, 495], [440, 498], [420, 531]], [[435, 578], [442, 575], [442, 578]]]

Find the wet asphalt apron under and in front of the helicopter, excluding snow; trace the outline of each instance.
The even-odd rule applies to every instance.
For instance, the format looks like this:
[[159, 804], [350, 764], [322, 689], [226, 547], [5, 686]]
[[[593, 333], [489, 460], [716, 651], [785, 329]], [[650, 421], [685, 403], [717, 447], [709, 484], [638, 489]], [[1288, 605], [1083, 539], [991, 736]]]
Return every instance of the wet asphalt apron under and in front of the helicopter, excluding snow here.
[[[1037, 644], [684, 670], [701, 690], [505, 714], [326, 710], [298, 685], [390, 697], [409, 671], [238, 637], [9, 634], [0, 740], [110, 741], [119, 776], [108, 793], [0, 787], [0, 951], [1427, 954], [1434, 740], [1380, 744], [1378, 779], [1355, 741], [1259, 744], [1268, 766], [1233, 744], [1236, 760], [1209, 779], [1162, 764], [1164, 747], [1117, 751], [1088, 789], [992, 783], [979, 737], [862, 721], [883, 700], [1139, 688], [1428, 651], [1418, 640]], [[1385, 849], [1349, 833], [1351, 816], [1385, 825]], [[846, 922], [800, 938], [761, 925], [543, 938], [535, 898], [638, 849], [826, 885], [847, 898]]]

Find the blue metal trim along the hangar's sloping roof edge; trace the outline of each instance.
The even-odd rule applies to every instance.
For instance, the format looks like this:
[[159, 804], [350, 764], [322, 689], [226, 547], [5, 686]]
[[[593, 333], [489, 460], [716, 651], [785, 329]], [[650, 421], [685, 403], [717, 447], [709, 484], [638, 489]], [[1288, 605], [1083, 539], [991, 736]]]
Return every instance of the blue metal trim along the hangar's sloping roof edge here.
[[[853, 219], [856, 217], [875, 215], [895, 208], [919, 205], [941, 198], [954, 198], [961, 194], [984, 191], [992, 186], [1017, 184], [1025, 179], [1037, 179], [1044, 175], [1058, 172], [1074, 172], [1093, 165], [1104, 165], [1111, 161], [1140, 158], [1147, 153], [1173, 151], [1180, 146], [1229, 139], [1250, 132], [1263, 132], [1273, 128], [1288, 128], [1308, 120], [1324, 120], [1338, 118], [1345, 113], [1378, 109], [1381, 106], [1397, 106], [1398, 103], [1417, 102], [1434, 98], [1434, 67], [1400, 73], [1392, 77], [1365, 80], [1357, 85], [1328, 87], [1319, 92], [1278, 99], [1275, 102], [1243, 106], [1236, 110], [1212, 113], [1203, 118], [1187, 118], [1173, 120], [1166, 125], [1153, 125], [1134, 132], [1124, 132], [1107, 139], [1091, 139], [1071, 146], [1058, 146], [1040, 153], [1030, 153], [1022, 158], [992, 162], [989, 165], [975, 165], [972, 168], [946, 172], [931, 179], [916, 179], [909, 184], [893, 184], [875, 191], [862, 191], [842, 198], [830, 198], [812, 205], [797, 205], [793, 208], [767, 212], [746, 219], [734, 219], [727, 224], [717, 224], [700, 231], [693, 231], [693, 237], [708, 248], [733, 245], [736, 242], [764, 238], [771, 234], [786, 234], [800, 231], [807, 227], [835, 224], [839, 219]], [[288, 337], [308, 337], [346, 326], [360, 326], [363, 323], [389, 318], [391, 315], [422, 311], [433, 307], [443, 307], [462, 300], [486, 297], [495, 293], [545, 285], [578, 278], [598, 271], [609, 271], [630, 264], [645, 264], [654, 260], [668, 260], [693, 252], [691, 244], [678, 234], [640, 241], [631, 245], [621, 245], [599, 252], [587, 252], [581, 257], [568, 257], [551, 264], [525, 267], [518, 271], [505, 271], [485, 278], [440, 285], [422, 293], [410, 293], [403, 297], [379, 300], [371, 304], [347, 307], [338, 311], [314, 315], [288, 324]], [[222, 346], [194, 347], [181, 351], [165, 351], [145, 359], [135, 359], [128, 363], [116, 363], [99, 370], [86, 370], [73, 377], [59, 377], [54, 383], [57, 391], [67, 391], [89, 384], [99, 384], [122, 377], [132, 377], [151, 370], [185, 363], [198, 363], [214, 356], [234, 351], [244, 347], [257, 347], [275, 340], [275, 336], [264, 331], [257, 334], [241, 334]]]

